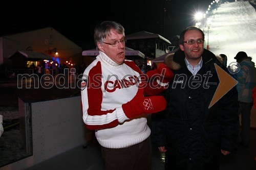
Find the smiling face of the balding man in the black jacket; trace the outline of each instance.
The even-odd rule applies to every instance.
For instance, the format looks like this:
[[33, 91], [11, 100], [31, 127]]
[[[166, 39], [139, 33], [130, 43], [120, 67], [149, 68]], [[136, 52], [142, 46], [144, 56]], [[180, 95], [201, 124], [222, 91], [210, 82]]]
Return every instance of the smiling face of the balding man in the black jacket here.
[[[203, 35], [197, 30], [189, 30], [184, 35], [184, 41], [189, 39], [203, 39]], [[184, 42], [184, 45], [180, 44], [180, 49], [184, 51], [187, 60], [197, 60], [203, 54], [204, 43], [198, 43], [196, 41], [195, 44], [187, 44]]]

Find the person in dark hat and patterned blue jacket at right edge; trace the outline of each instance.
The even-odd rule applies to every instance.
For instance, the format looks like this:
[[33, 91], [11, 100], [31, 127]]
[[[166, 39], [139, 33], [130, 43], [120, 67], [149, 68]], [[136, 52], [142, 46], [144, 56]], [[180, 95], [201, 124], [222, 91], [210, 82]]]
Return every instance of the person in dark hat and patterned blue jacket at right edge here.
[[253, 106], [252, 89], [256, 86], [256, 68], [255, 63], [251, 61], [245, 52], [238, 52], [234, 59], [238, 62], [238, 72], [236, 79], [238, 81], [238, 101], [239, 114], [241, 114], [242, 129], [239, 134], [239, 142], [244, 147], [249, 146], [250, 139], [250, 113]]

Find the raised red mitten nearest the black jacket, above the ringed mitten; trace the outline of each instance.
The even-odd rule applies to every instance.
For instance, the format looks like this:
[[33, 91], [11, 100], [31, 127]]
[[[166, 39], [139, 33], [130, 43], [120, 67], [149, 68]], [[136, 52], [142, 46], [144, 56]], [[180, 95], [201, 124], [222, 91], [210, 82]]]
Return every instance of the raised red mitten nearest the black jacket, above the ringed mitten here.
[[174, 73], [165, 64], [160, 63], [157, 69], [146, 72], [148, 79], [157, 78], [161, 83], [168, 83], [174, 78]]

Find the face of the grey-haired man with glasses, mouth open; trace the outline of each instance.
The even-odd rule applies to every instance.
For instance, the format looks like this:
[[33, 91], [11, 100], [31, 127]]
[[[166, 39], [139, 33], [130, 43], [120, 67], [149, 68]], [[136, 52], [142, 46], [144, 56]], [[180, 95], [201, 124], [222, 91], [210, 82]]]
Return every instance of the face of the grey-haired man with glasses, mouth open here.
[[105, 43], [99, 43], [98, 42], [98, 48], [100, 51], [105, 53], [110, 59], [112, 59], [117, 64], [122, 64], [125, 58], [125, 44], [122, 44], [121, 42], [118, 43], [117, 46], [112, 46], [110, 44], [106, 43], [113, 43], [116, 41], [123, 40], [125, 37], [123, 34], [118, 34], [115, 30], [111, 29], [110, 33], [103, 42]]

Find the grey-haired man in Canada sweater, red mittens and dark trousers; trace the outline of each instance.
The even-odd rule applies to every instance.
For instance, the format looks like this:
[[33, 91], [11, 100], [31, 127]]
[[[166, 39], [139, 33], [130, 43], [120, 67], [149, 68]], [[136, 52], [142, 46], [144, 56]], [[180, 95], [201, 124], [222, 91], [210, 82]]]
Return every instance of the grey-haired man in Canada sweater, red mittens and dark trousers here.
[[83, 122], [95, 130], [105, 169], [151, 169], [146, 114], [165, 109], [164, 97], [156, 95], [166, 90], [173, 72], [163, 65], [158, 70], [165, 71], [164, 77], [148, 83], [140, 68], [125, 60], [124, 28], [118, 22], [99, 23], [94, 41], [99, 55], [81, 81]]

